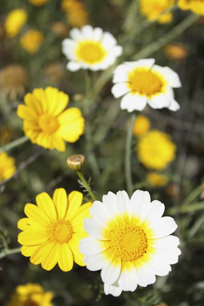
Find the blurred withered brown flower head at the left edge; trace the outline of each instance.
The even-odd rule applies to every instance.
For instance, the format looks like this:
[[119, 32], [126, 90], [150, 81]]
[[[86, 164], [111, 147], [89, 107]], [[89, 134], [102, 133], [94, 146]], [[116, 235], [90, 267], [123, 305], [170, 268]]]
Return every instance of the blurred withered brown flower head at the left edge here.
[[11, 100], [23, 95], [27, 84], [28, 73], [22, 66], [9, 65], [0, 70], [0, 87]]

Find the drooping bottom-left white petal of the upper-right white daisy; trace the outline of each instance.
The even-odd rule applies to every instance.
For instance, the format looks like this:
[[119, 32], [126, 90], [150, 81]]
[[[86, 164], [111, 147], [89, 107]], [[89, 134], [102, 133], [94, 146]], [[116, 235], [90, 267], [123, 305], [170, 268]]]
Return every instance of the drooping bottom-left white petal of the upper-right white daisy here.
[[127, 93], [123, 96], [120, 107], [122, 110], [127, 110], [129, 113], [134, 110], [142, 111], [147, 103], [145, 96], [140, 96], [139, 94]]

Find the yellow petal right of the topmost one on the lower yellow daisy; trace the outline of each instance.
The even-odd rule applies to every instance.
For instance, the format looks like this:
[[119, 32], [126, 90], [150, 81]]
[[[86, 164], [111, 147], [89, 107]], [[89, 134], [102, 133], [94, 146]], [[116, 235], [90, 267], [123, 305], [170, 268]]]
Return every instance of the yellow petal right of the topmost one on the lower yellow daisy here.
[[72, 191], [68, 195], [68, 210], [65, 216], [66, 220], [71, 220], [76, 214], [78, 209], [82, 205], [83, 194], [79, 191]]

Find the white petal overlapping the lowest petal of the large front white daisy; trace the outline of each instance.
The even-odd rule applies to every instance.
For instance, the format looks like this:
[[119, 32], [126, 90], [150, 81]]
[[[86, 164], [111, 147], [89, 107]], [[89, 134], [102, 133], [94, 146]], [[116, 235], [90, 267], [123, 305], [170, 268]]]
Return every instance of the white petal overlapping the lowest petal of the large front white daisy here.
[[121, 260], [119, 258], [113, 258], [112, 261], [107, 261], [101, 270], [100, 276], [104, 283], [114, 284], [121, 271]]

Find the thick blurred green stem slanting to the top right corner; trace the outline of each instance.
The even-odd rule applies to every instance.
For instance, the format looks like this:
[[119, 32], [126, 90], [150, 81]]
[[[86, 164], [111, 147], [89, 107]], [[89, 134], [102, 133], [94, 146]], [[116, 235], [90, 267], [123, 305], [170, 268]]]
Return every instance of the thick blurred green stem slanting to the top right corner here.
[[148, 46], [144, 47], [142, 50], [136, 53], [135, 56], [133, 56], [133, 60], [139, 60], [141, 58], [150, 56], [152, 53], [155, 53], [164, 45], [166, 45], [169, 41], [172, 41], [177, 36], [182, 34], [185, 30], [187, 30], [198, 18], [198, 15], [191, 14], [181, 23], [176, 25], [176, 27], [174, 27], [171, 31], [165, 34], [165, 36], [159, 38], [155, 42], [150, 43]]

